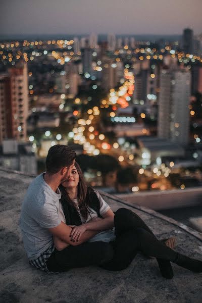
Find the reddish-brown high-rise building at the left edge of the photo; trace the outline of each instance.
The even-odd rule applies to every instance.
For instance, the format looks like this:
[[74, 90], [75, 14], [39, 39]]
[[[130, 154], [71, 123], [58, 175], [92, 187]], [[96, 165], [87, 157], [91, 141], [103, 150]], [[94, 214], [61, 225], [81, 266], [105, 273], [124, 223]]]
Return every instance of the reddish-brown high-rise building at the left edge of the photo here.
[[9, 69], [0, 77], [0, 142], [4, 139], [26, 141], [28, 117], [27, 64]]

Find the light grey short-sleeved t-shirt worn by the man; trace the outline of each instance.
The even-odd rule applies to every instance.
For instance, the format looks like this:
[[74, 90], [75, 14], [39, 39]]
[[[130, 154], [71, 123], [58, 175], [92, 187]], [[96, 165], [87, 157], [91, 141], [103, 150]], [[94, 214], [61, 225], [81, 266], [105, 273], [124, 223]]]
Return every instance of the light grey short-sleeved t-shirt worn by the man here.
[[[44, 174], [44, 173], [43, 173]], [[43, 174], [37, 176], [29, 185], [21, 209], [20, 227], [28, 258], [37, 259], [43, 251], [54, 245], [53, 235], [48, 228], [61, 223], [61, 193], [44, 181]]]

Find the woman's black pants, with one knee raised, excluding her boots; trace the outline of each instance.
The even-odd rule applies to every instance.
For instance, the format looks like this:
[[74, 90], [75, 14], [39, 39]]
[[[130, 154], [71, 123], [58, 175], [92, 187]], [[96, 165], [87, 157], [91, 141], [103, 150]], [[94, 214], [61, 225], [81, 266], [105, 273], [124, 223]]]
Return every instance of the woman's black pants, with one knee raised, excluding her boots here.
[[107, 270], [123, 270], [129, 266], [138, 251], [156, 257], [158, 261], [175, 261], [177, 252], [159, 241], [143, 220], [128, 209], [115, 213], [116, 240], [113, 243], [114, 257], [101, 265]]

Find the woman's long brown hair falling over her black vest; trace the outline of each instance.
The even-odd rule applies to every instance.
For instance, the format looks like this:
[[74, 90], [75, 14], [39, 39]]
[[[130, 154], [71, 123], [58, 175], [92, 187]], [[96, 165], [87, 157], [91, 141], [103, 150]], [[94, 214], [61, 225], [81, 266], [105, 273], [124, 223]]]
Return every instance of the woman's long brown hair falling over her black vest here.
[[[88, 206], [89, 199], [87, 198], [87, 186], [85, 183], [85, 179], [84, 179], [82, 170], [76, 161], [75, 161], [75, 167], [76, 167], [78, 175], [79, 175], [79, 183], [78, 183], [78, 188], [77, 188], [77, 200], [78, 200], [79, 210], [80, 210], [81, 216], [86, 220], [88, 217], [88, 214], [91, 213], [91, 211], [89, 210], [89, 206]], [[70, 203], [72, 206], [74, 206], [74, 203], [70, 199], [68, 193], [67, 193], [67, 196], [68, 196], [68, 203]]]

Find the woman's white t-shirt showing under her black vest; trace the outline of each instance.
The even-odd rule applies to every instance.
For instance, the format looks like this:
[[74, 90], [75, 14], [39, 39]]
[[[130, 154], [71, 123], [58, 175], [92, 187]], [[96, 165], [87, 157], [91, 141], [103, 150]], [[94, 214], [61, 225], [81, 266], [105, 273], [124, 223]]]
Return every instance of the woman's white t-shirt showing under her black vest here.
[[[107, 211], [109, 211], [110, 207], [109, 205], [106, 203], [106, 201], [103, 199], [103, 197], [96, 191], [94, 190], [98, 199], [99, 199], [99, 203], [100, 203], [100, 209], [99, 209], [99, 213], [100, 215], [104, 215]], [[79, 207], [78, 207], [78, 201], [77, 199], [73, 199], [73, 202], [77, 208], [77, 211], [79, 213], [79, 216], [81, 218], [81, 222], [82, 224], [83, 223], [87, 223], [89, 222], [92, 218], [97, 218], [97, 213], [91, 209], [91, 213], [88, 214], [88, 217], [87, 217], [87, 220], [85, 220], [80, 212], [79, 212]], [[65, 215], [63, 213], [63, 208], [62, 208], [62, 205], [60, 203], [60, 206], [59, 206], [59, 218], [64, 222], [66, 223], [66, 220], [65, 220]], [[103, 241], [103, 242], [110, 242], [110, 241], [113, 241], [115, 240], [116, 236], [115, 236], [115, 228], [112, 228], [112, 229], [109, 229], [109, 230], [104, 230], [104, 231], [100, 231], [99, 233], [97, 233], [94, 237], [92, 237], [91, 239], [88, 240], [88, 242], [95, 242], [95, 241]]]

